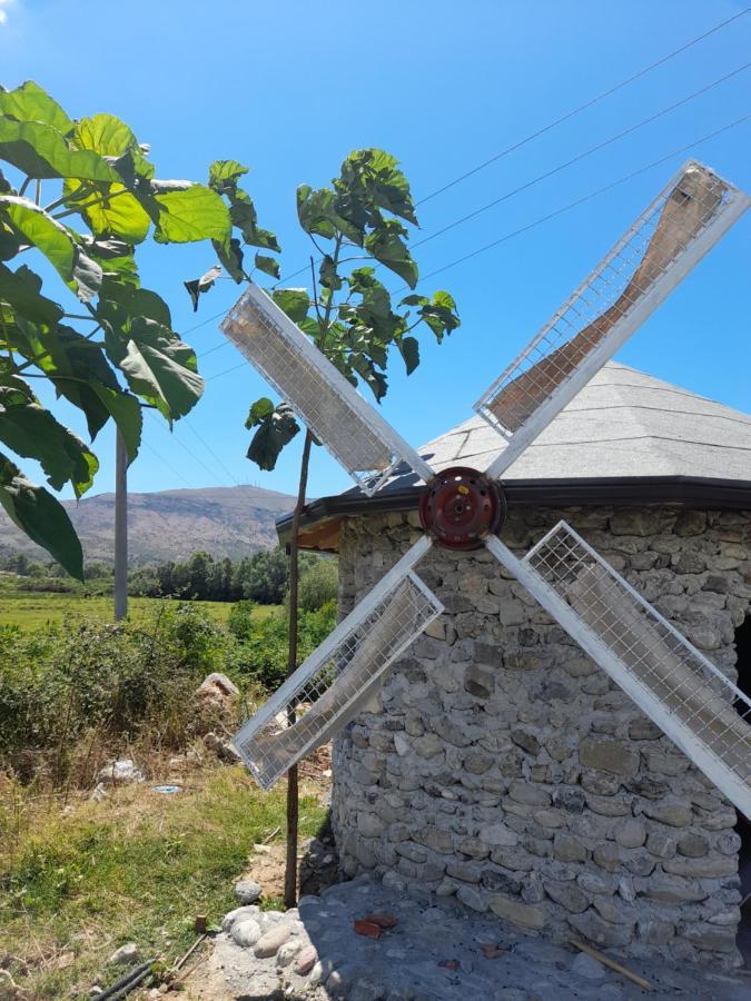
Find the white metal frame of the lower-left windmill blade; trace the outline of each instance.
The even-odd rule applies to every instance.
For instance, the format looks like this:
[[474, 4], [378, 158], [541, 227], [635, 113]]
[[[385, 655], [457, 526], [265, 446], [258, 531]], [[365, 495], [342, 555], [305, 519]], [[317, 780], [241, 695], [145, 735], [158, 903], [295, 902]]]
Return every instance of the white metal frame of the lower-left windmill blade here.
[[[325, 740], [328, 740], [332, 733], [340, 729], [342, 725], [345, 725], [348, 720], [343, 721], [343, 716], [348, 713], [352, 715], [349, 711], [353, 706], [356, 706], [356, 712], [363, 707], [370, 697], [373, 686], [378, 677], [381, 677], [386, 668], [409, 646], [416, 636], [424, 632], [424, 630], [443, 613], [443, 604], [413, 571], [413, 567], [428, 552], [432, 544], [432, 539], [428, 536], [422, 536], [398, 563], [384, 575], [378, 584], [355, 606], [349, 615], [336, 626], [310, 656], [300, 664], [297, 671], [287, 678], [270, 698], [249, 720], [247, 720], [235, 734], [233, 737], [233, 745], [236, 747], [255, 780], [263, 789], [269, 789], [274, 785], [274, 783], [291, 767], [291, 765], [319, 746]], [[424, 621], [421, 623], [419, 631], [416, 633], [413, 632], [403, 643], [394, 647], [389, 652], [387, 658], [378, 664], [377, 668], [368, 675], [366, 683], [356, 693], [356, 696], [349, 698], [349, 701], [342, 705], [334, 715], [328, 716], [323, 729], [309, 734], [308, 739], [295, 750], [294, 755], [285, 760], [283, 766], [279, 764], [275, 767], [261, 767], [256, 760], [257, 757], [263, 756], [263, 751], [258, 751], [258, 744], [255, 741], [256, 736], [268, 727], [269, 724], [273, 724], [275, 718], [278, 720], [280, 714], [286, 714], [290, 706], [295, 705], [297, 695], [305, 690], [306, 684], [315, 678], [322, 667], [325, 667], [337, 652], [340, 652], [340, 650], [346, 646], [347, 641], [356, 634], [358, 626], [365, 623], [368, 616], [370, 616], [382, 603], [387, 602], [389, 596], [392, 596], [405, 581], [408, 581], [417, 588], [425, 602], [425, 615]], [[376, 623], [374, 628], [377, 630], [377, 627], [378, 625]], [[335, 680], [327, 691], [333, 692], [336, 684], [337, 681]], [[305, 717], [303, 717], [303, 720], [304, 718]], [[299, 724], [299, 722], [300, 721], [293, 723], [287, 732], [290, 732], [294, 726]], [[270, 761], [269, 764], [276, 765], [278, 763]]]

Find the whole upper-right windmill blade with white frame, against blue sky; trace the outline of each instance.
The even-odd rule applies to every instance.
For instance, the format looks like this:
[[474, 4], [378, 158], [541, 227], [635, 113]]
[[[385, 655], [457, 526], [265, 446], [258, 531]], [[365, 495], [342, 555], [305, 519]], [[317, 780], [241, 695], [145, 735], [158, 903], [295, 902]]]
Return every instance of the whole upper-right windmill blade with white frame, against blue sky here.
[[508, 439], [497, 478], [751, 205], [690, 161], [511, 363], [474, 409]]

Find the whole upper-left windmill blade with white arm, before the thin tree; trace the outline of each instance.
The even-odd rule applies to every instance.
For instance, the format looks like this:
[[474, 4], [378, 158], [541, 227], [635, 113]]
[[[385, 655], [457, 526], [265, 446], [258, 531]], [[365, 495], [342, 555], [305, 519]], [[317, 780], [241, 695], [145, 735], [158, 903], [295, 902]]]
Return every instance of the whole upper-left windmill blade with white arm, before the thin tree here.
[[422, 456], [257, 285], [248, 286], [221, 329], [368, 497], [402, 462], [431, 479]]

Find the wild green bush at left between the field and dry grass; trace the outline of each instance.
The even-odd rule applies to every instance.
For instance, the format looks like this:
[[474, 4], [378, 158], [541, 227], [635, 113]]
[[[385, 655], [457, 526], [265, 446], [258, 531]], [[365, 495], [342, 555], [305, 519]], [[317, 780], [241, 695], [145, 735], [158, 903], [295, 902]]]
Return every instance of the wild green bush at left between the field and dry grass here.
[[70, 621], [1, 631], [0, 766], [23, 779], [42, 767], [60, 783], [93, 733], [180, 746], [195, 733], [192, 692], [224, 665], [227, 641], [201, 609], [168, 604], [148, 627]]

